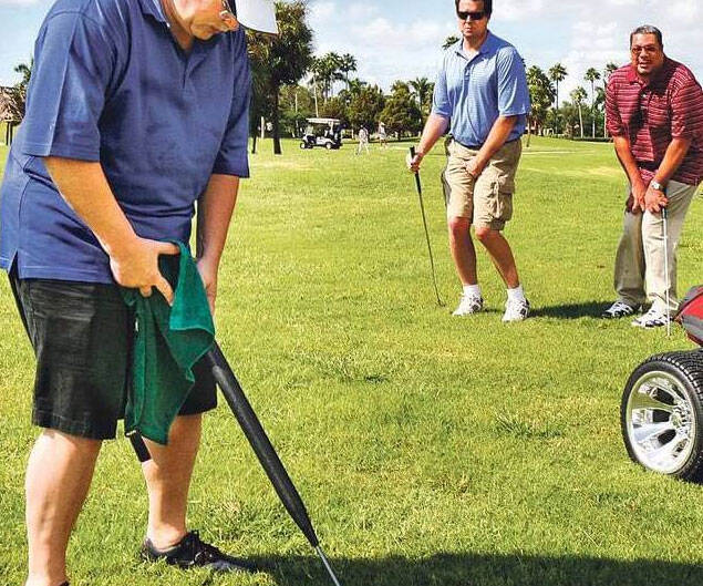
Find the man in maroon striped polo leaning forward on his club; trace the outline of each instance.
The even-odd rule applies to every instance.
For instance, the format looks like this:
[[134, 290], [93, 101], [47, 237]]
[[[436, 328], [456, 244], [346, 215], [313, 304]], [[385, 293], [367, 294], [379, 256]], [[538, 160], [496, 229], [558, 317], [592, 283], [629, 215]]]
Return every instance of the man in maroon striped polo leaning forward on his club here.
[[[654, 27], [632, 32], [630, 53], [631, 62], [610, 75], [606, 92], [608, 132], [629, 184], [616, 258], [618, 299], [603, 317], [632, 316], [649, 301], [649, 311], [632, 325], [657, 328], [679, 307], [676, 246], [703, 179], [703, 92], [686, 66], [664, 54], [662, 33]], [[666, 247], [662, 208], [668, 212]]]

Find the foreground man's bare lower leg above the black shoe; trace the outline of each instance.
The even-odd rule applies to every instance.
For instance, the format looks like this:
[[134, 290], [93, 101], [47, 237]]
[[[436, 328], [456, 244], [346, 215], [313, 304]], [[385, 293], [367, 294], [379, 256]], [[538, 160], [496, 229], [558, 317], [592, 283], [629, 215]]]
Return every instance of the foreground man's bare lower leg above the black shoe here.
[[146, 536], [159, 549], [186, 535], [188, 489], [200, 443], [201, 415], [178, 417], [168, 445], [146, 440], [152, 460], [142, 465], [149, 500]]

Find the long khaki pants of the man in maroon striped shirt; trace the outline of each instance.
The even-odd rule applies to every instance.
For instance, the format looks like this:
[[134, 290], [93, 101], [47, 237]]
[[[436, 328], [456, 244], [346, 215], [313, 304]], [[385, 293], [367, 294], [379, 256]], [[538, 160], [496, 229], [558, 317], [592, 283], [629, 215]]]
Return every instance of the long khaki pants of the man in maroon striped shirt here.
[[[696, 186], [670, 181], [666, 186], [669, 232], [670, 311], [676, 299], [676, 248]], [[628, 195], [629, 195], [628, 187]], [[664, 270], [664, 222], [660, 214], [631, 214], [626, 210], [622, 237], [616, 257], [616, 291], [620, 301], [632, 307], [649, 301], [666, 311], [666, 271]]]

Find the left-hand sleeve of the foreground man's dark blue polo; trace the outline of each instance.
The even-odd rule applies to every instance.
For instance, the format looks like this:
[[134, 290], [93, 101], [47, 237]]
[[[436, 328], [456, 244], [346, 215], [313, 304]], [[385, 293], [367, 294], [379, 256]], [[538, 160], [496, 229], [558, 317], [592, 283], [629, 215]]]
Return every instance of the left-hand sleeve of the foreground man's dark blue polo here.
[[28, 89], [24, 154], [100, 161], [97, 124], [114, 55], [106, 32], [83, 14], [46, 20]]

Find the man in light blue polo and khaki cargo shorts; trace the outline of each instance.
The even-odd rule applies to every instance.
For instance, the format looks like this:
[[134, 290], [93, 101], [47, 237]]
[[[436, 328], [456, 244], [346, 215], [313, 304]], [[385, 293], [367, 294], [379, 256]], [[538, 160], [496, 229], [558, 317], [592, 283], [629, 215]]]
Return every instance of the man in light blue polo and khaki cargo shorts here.
[[508, 289], [503, 321], [520, 321], [529, 315], [529, 302], [502, 230], [513, 217], [520, 136], [530, 111], [525, 65], [511, 44], [488, 30], [493, 0], [455, 0], [455, 8], [463, 38], [444, 54], [432, 113], [409, 166], [417, 172], [449, 130], [444, 172], [449, 247], [464, 287], [454, 315], [476, 313], [484, 307], [473, 225]]

